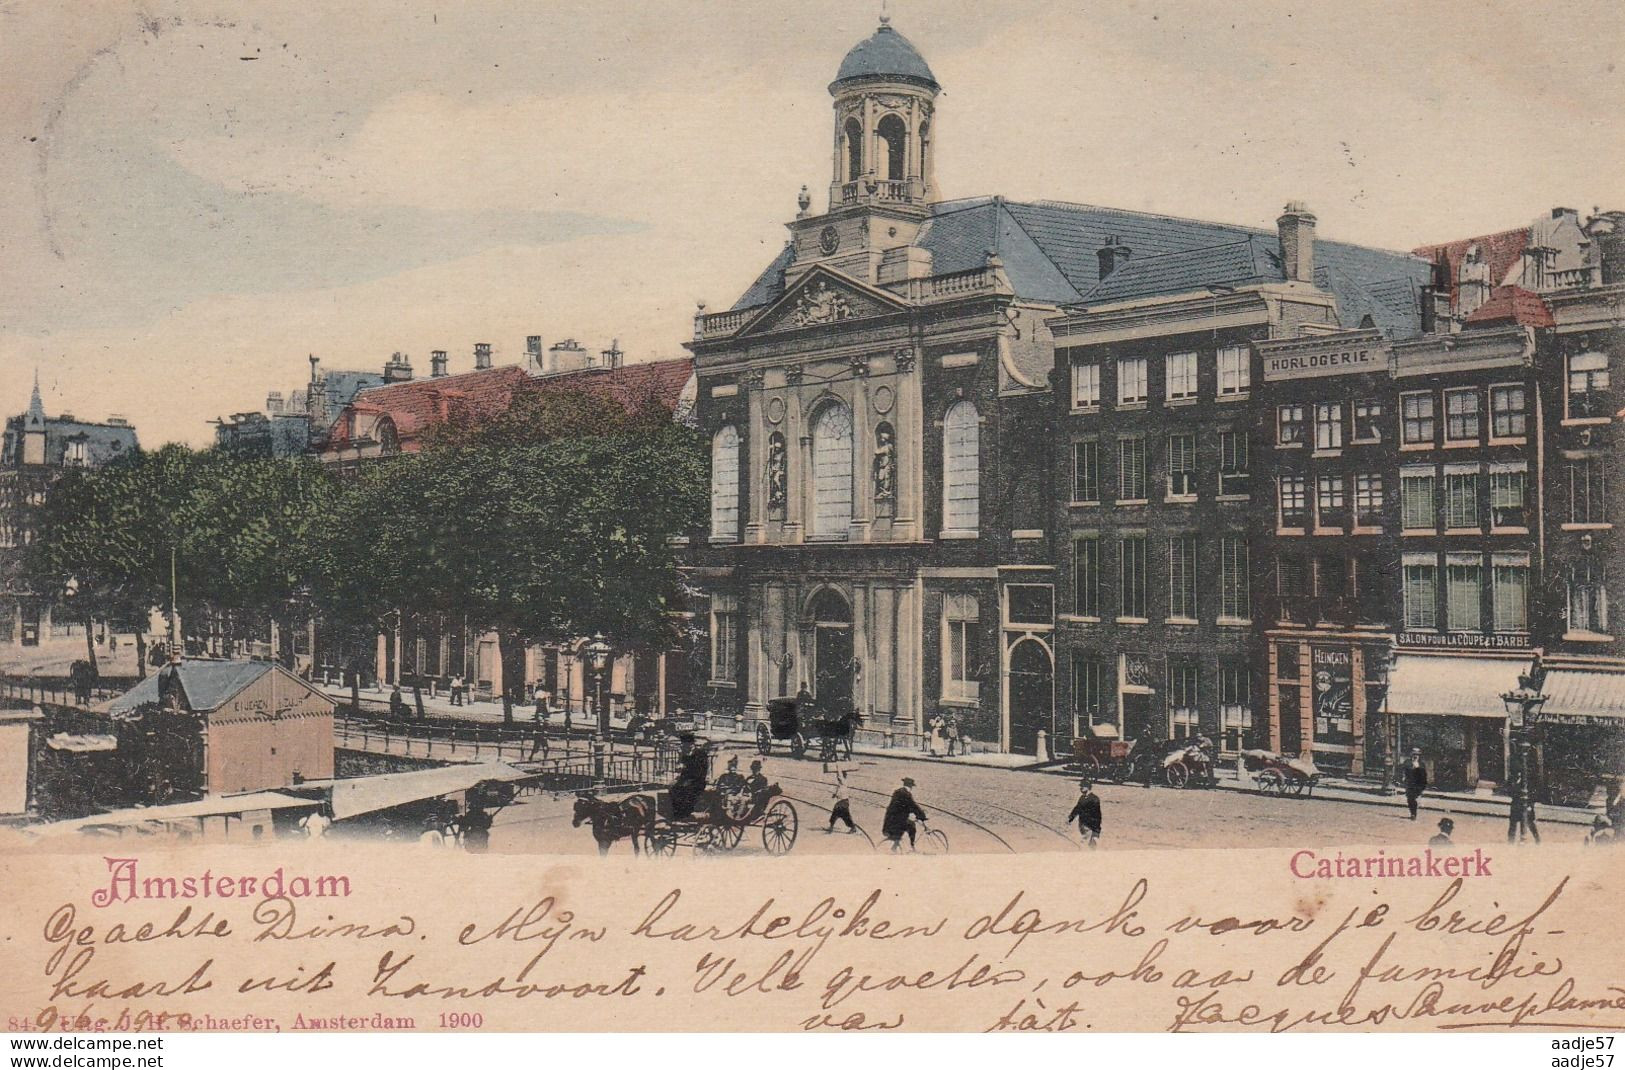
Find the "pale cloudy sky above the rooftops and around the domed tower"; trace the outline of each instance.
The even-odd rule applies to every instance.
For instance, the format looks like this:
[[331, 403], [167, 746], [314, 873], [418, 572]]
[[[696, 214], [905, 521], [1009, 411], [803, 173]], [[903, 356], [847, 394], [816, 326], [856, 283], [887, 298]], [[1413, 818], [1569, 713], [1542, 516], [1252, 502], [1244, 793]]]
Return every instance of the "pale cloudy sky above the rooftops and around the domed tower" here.
[[[0, 0], [0, 411], [143, 446], [328, 368], [682, 354], [826, 203], [879, 0]], [[1625, 208], [1615, 0], [892, 0], [944, 197], [1386, 249]]]

